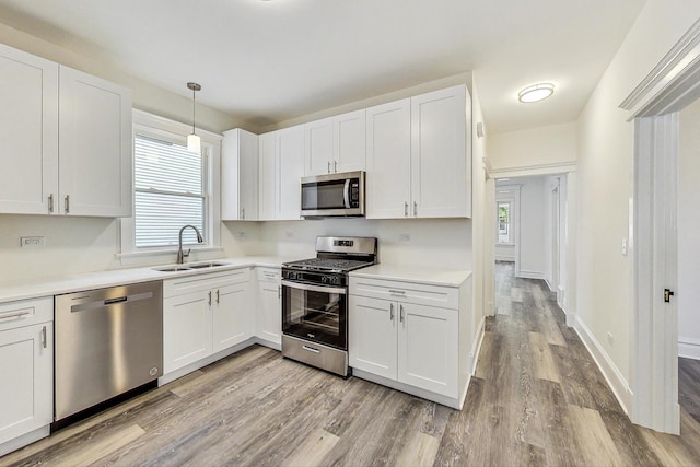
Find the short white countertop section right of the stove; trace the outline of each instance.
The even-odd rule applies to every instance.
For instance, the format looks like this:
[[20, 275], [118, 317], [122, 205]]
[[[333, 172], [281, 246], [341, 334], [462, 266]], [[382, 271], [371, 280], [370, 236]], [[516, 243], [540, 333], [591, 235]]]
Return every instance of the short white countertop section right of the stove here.
[[386, 279], [405, 282], [429, 283], [433, 285], [459, 287], [471, 271], [423, 268], [417, 266], [374, 265], [350, 272], [351, 277], [368, 279]]

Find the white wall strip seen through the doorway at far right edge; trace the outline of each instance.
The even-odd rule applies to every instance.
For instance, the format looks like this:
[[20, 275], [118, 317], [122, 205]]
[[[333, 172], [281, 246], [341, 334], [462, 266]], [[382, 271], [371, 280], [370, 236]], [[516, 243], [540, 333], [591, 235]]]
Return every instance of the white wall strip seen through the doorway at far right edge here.
[[680, 112], [678, 354], [700, 359], [700, 100]]

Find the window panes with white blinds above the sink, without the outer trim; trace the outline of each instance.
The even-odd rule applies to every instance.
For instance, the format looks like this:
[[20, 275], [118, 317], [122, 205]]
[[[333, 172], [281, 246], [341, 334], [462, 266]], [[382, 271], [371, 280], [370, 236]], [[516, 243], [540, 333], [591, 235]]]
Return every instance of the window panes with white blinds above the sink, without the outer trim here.
[[[206, 150], [206, 149], [205, 149]], [[195, 225], [209, 243], [206, 157], [185, 145], [136, 133], [133, 140], [133, 246], [177, 245], [183, 225]], [[197, 244], [194, 230], [183, 244]]]

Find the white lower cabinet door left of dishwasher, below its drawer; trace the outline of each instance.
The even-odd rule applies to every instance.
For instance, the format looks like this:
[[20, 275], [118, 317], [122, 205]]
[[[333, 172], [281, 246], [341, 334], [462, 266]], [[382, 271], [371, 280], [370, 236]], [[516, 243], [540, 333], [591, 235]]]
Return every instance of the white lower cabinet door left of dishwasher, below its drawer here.
[[51, 323], [0, 332], [0, 444], [54, 421]]

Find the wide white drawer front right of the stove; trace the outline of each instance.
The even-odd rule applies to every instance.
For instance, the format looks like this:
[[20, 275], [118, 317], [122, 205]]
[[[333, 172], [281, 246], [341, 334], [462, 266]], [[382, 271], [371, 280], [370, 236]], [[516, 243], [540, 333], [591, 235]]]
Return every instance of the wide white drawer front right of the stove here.
[[399, 300], [441, 308], [459, 307], [459, 290], [451, 287], [351, 277], [349, 292], [351, 295]]

